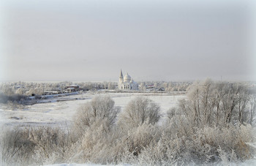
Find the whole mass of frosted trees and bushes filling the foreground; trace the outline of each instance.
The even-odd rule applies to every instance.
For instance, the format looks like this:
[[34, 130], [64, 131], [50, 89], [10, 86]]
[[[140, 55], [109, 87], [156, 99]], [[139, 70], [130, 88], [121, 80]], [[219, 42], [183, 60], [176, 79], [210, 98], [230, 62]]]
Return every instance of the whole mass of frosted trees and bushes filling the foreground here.
[[[158, 123], [162, 118], [162, 123]], [[166, 120], [164, 120], [166, 118]], [[241, 83], [194, 83], [187, 99], [160, 114], [132, 99], [121, 111], [110, 97], [81, 106], [66, 130], [13, 129], [1, 140], [2, 162], [195, 165], [243, 162], [255, 155], [255, 94]], [[23, 152], [24, 151], [24, 152]], [[25, 153], [26, 152], [26, 153]]]

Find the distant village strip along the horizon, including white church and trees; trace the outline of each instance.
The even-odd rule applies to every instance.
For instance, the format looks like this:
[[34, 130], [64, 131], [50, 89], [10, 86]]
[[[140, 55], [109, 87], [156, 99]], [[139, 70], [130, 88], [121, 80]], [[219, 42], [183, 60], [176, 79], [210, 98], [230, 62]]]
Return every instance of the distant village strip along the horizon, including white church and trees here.
[[[183, 82], [167, 82], [167, 81], [140, 81], [135, 82], [127, 73], [123, 76], [120, 71], [118, 82], [80, 82], [72, 83], [63, 81], [59, 83], [28, 83], [28, 82], [3, 82], [0, 83], [0, 95], [11, 97], [13, 95], [21, 95], [25, 97], [51, 95], [51, 94], [67, 94], [83, 91], [109, 91], [109, 92], [186, 92], [187, 88], [192, 85], [190, 81]], [[255, 89], [256, 84], [246, 82], [249, 88]], [[2, 97], [3, 98], [3, 97]]]

